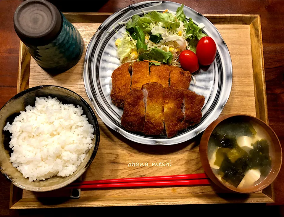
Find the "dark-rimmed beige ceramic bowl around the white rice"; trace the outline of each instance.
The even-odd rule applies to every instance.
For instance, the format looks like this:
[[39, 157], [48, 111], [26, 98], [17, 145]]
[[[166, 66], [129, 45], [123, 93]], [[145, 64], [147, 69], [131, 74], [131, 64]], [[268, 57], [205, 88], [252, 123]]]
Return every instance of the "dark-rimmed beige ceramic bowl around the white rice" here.
[[[49, 88], [48, 88], [49, 87]], [[61, 87], [61, 86], [56, 86], [56, 85], [40, 85], [40, 86], [35, 86], [35, 87], [31, 87], [31, 88], [28, 88], [26, 90], [23, 90], [21, 91], [20, 93], [16, 94], [14, 97], [12, 97], [11, 99], [8, 100], [8, 102], [6, 102], [0, 109], [0, 113], [1, 113], [1, 110], [8, 106], [13, 100], [29, 93], [29, 92], [32, 92], [32, 91], [35, 91], [35, 90], [38, 90], [38, 89], [53, 89], [53, 88], [57, 88], [59, 91], [69, 91], [70, 93], [72, 94], [75, 94], [77, 95], [81, 102], [86, 106], [87, 110], [91, 113], [91, 116], [93, 118], [93, 121], [94, 121], [94, 125], [93, 125], [93, 128], [95, 129], [94, 131], [94, 138], [93, 139], [96, 139], [95, 140], [95, 143], [93, 144], [94, 146], [94, 149], [93, 149], [93, 153], [91, 154], [91, 157], [89, 158], [88, 160], [88, 163], [85, 165], [84, 168], [82, 168], [80, 171], [77, 172], [77, 174], [75, 175], [70, 175], [71, 178], [68, 179], [67, 181], [64, 181], [64, 178], [68, 178], [70, 176], [65, 176], [65, 177], [62, 177], [62, 183], [59, 183], [59, 184], [56, 184], [55, 187], [54, 186], [47, 186], [47, 187], [35, 187], [35, 188], [30, 188], [30, 187], [26, 187], [26, 186], [23, 186], [22, 184], [20, 183], [17, 183], [15, 180], [13, 180], [12, 178], [12, 175], [10, 174], [7, 174], [2, 166], [0, 165], [0, 170], [1, 170], [1, 173], [9, 180], [11, 181], [15, 186], [19, 187], [19, 188], [22, 188], [22, 189], [25, 189], [25, 190], [29, 190], [29, 191], [35, 191], [35, 192], [45, 192], [45, 191], [51, 191], [51, 190], [56, 190], [56, 189], [59, 189], [59, 188], [62, 188], [62, 187], [65, 187], [66, 185], [72, 183], [73, 181], [75, 181], [76, 179], [78, 179], [85, 171], [86, 169], [91, 165], [91, 163], [93, 162], [93, 159], [95, 158], [96, 156], [96, 153], [98, 151], [98, 147], [99, 147], [99, 142], [100, 142], [100, 131], [99, 131], [99, 123], [98, 123], [98, 120], [96, 118], [96, 115], [95, 115], [95, 112], [92, 110], [91, 106], [88, 104], [88, 102], [85, 101], [85, 99], [83, 99], [83, 97], [81, 97], [79, 94], [75, 93], [74, 91], [70, 90], [70, 89], [67, 89], [67, 88], [64, 88], [64, 87]], [[64, 93], [64, 91], [62, 91]], [[59, 100], [60, 101], [60, 100]], [[60, 101], [61, 102], [61, 101]], [[73, 104], [74, 105], [74, 104]], [[79, 105], [80, 106], [80, 105]], [[90, 122], [89, 122], [90, 123]], [[89, 149], [90, 151], [90, 149]], [[82, 162], [83, 163], [83, 162]], [[11, 163], [12, 165], [12, 163]], [[77, 170], [76, 170], [77, 171]], [[20, 171], [18, 171], [19, 173], [21, 173]], [[22, 174], [22, 173], [21, 173]], [[53, 177], [53, 176], [52, 176]], [[51, 179], [52, 177], [48, 178], [48, 179]], [[25, 179], [28, 179], [28, 178], [25, 178]], [[48, 180], [46, 179], [46, 180]], [[43, 182], [44, 180], [41, 180], [41, 182]], [[34, 181], [35, 182], [35, 181]], [[31, 182], [33, 183], [33, 182]]]

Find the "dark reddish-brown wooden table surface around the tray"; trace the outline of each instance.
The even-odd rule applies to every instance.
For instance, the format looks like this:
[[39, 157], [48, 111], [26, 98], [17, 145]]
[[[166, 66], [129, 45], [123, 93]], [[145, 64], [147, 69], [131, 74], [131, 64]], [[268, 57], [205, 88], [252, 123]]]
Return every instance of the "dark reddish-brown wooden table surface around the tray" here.
[[[116, 12], [138, 1], [51, 2], [61, 11], [65, 12]], [[193, 8], [201, 14], [261, 15], [269, 124], [279, 137], [282, 146], [284, 146], [284, 1], [177, 2], [184, 3], [186, 6]], [[14, 31], [13, 14], [19, 4], [20, 1], [0, 1], [0, 107], [16, 94], [20, 39]], [[274, 185], [277, 205], [284, 204], [283, 179], [284, 169], [282, 168]], [[9, 194], [10, 183], [4, 176], [0, 176], [0, 215], [45, 215], [39, 210], [26, 210], [22, 212], [9, 210]], [[250, 206], [252, 207], [254, 205]], [[197, 208], [200, 207], [201, 206], [197, 206]], [[214, 206], [214, 208], [217, 207], [218, 205]], [[210, 206], [210, 208], [213, 207]], [[230, 205], [227, 205], [227, 208], [230, 209]], [[74, 210], [78, 211], [78, 209], [72, 209], [71, 212], [74, 213]], [[111, 210], [111, 208], [108, 208], [108, 210]], [[122, 208], [120, 208], [120, 210], [122, 210]], [[271, 212], [272, 208], [265, 208], [265, 210]], [[283, 210], [283, 208], [273, 208], [273, 212], [278, 212], [279, 210]], [[50, 211], [47, 211], [47, 213]], [[77, 211], [75, 211], [75, 213]], [[81, 211], [82, 210], [80, 210], [80, 212]]]

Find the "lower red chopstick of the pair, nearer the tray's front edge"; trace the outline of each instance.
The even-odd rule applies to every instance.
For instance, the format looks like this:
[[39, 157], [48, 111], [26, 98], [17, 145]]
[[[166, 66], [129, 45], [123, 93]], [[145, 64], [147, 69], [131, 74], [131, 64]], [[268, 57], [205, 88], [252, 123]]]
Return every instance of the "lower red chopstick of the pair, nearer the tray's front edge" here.
[[68, 186], [68, 189], [91, 189], [91, 188], [122, 188], [122, 187], [163, 187], [163, 186], [183, 186], [183, 185], [210, 185], [209, 179], [191, 179], [191, 180], [174, 180], [174, 181], [142, 181], [126, 183], [109, 183], [109, 184], [83, 184]]

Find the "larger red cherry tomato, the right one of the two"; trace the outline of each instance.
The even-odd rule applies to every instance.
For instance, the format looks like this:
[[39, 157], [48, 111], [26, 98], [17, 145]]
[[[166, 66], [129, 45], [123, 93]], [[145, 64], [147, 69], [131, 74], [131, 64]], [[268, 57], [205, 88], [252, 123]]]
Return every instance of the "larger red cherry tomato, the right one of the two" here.
[[196, 56], [200, 65], [210, 65], [216, 57], [215, 41], [209, 36], [202, 37], [196, 46]]

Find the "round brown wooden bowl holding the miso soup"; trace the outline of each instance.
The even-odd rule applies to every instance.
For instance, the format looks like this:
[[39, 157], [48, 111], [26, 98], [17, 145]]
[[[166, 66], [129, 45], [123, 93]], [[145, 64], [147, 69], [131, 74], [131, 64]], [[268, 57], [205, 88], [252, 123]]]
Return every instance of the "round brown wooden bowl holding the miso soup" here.
[[[251, 120], [251, 121], [254, 121], [255, 123], [259, 124], [268, 133], [268, 135], [271, 137], [271, 141], [272, 141], [272, 144], [270, 144], [271, 147], [270, 147], [270, 150], [269, 150], [269, 154], [270, 154], [271, 162], [272, 162], [271, 163], [271, 171], [264, 180], [262, 180], [259, 184], [256, 184], [255, 186], [251, 186], [251, 187], [236, 188], [233, 185], [223, 183], [222, 181], [220, 181], [216, 177], [216, 175], [212, 171], [212, 168], [209, 164], [207, 150], [208, 150], [209, 138], [210, 138], [213, 130], [223, 120], [226, 120], [227, 118], [231, 118], [231, 117], [236, 117], [236, 116], [238, 116], [241, 120], [244, 120], [244, 121], [250, 121]], [[200, 145], [199, 145], [199, 155], [200, 155], [200, 160], [201, 160], [201, 163], [202, 163], [202, 166], [203, 166], [205, 173], [207, 174], [207, 176], [209, 176], [209, 178], [215, 184], [217, 184], [222, 189], [228, 190], [230, 192], [238, 192], [238, 193], [253, 193], [253, 192], [261, 191], [262, 189], [266, 188], [275, 180], [275, 178], [277, 177], [277, 175], [280, 171], [281, 164], [282, 164], [281, 144], [280, 144], [279, 139], [276, 136], [275, 132], [272, 130], [272, 128], [270, 128], [270, 126], [268, 126], [265, 122], [263, 122], [262, 120], [260, 120], [258, 118], [255, 118], [255, 117], [250, 116], [250, 115], [243, 115], [243, 114], [225, 115], [225, 116], [222, 116], [222, 117], [218, 118], [217, 120], [213, 121], [206, 128], [206, 130], [204, 131], [204, 133], [201, 137], [201, 141], [200, 141]]]

